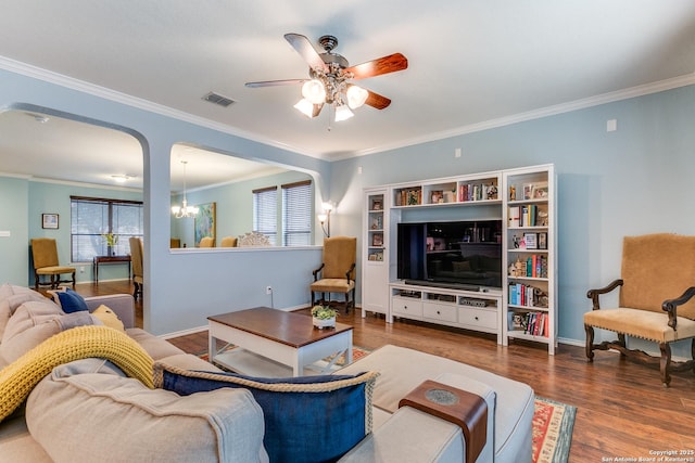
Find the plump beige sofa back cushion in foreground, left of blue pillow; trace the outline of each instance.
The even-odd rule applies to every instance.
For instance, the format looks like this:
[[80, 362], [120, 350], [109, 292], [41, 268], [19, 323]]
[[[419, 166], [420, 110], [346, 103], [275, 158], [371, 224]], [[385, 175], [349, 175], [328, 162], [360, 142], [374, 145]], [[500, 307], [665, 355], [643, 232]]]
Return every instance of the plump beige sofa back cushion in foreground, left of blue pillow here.
[[263, 413], [245, 389], [180, 397], [85, 359], [31, 391], [26, 423], [56, 462], [265, 462]]

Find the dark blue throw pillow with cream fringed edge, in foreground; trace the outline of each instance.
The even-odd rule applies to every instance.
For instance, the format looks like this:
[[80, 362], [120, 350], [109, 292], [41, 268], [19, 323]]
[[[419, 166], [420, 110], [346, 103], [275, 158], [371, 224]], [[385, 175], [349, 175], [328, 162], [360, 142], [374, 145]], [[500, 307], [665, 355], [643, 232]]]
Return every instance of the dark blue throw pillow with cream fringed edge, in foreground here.
[[271, 462], [336, 461], [371, 433], [379, 373], [263, 378], [188, 371], [155, 363], [156, 387], [181, 396], [220, 387], [249, 389], [263, 409], [263, 445]]

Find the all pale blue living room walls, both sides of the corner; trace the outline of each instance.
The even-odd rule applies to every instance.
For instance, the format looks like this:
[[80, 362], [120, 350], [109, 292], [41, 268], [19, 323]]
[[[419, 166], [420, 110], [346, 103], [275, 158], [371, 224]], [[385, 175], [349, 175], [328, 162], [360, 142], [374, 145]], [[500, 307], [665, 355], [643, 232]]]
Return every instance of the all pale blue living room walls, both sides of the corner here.
[[[584, 339], [582, 314], [590, 309], [586, 290], [619, 275], [624, 235], [661, 231], [695, 234], [695, 218], [690, 214], [695, 189], [693, 86], [326, 163], [17, 74], [0, 72], [0, 106], [30, 103], [123, 126], [142, 143], [149, 284], [146, 327], [154, 333], [203, 325], [206, 316], [222, 310], [267, 305], [267, 284], [280, 288], [274, 294], [276, 307], [300, 306], [308, 300], [311, 269], [320, 259], [318, 247], [169, 253], [168, 153], [174, 143], [181, 141], [311, 172], [318, 193], [316, 204], [325, 200], [337, 203], [331, 216], [332, 233], [356, 236], [361, 236], [363, 188], [555, 164], [559, 336], [570, 343]], [[617, 119], [617, 131], [606, 131], [608, 119]], [[459, 158], [454, 157], [457, 147], [463, 152]], [[5, 190], [8, 187], [0, 183], [3, 196]], [[28, 203], [25, 187], [11, 190], [18, 196], [16, 204]], [[0, 252], [3, 257], [9, 252], [12, 259], [24, 258], [24, 262], [25, 250], [10, 250], [8, 243], [18, 235], [24, 246], [28, 230], [22, 236], [22, 228], [27, 228], [27, 218], [7, 217], [0, 215], [0, 230], [13, 228], [13, 235], [0, 237]], [[677, 355], [681, 352], [683, 349], [675, 350]]]

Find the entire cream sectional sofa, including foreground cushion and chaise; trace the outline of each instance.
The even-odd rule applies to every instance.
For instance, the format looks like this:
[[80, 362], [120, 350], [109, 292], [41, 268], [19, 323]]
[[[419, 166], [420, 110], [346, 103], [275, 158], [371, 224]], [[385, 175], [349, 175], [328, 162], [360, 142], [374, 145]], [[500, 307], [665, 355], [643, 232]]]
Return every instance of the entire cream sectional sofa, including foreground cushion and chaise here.
[[[9, 320], [3, 311], [2, 287], [0, 339]], [[126, 326], [132, 326], [130, 295], [88, 298], [90, 310], [101, 304], [118, 313]], [[219, 371], [143, 330], [128, 327], [127, 334], [155, 360], [184, 369]], [[0, 369], [5, 364], [0, 360]], [[263, 412], [247, 390], [219, 389], [178, 397], [162, 389], [147, 389], [115, 370], [100, 359], [54, 369], [31, 391], [24, 413], [0, 422], [0, 460], [81, 462], [94, 461], [98, 455], [99, 461], [190, 461], [194, 454], [198, 462], [267, 461], [262, 442]], [[488, 440], [478, 462], [531, 461], [533, 391], [528, 385], [395, 346], [377, 349], [340, 370], [340, 374], [369, 370], [381, 373], [372, 401], [374, 433], [341, 461], [465, 461], [466, 446], [458, 426], [409, 407], [397, 409], [399, 400], [425, 380], [469, 390], [485, 400]], [[117, 415], [121, 409], [126, 412], [117, 423], [100, 419]], [[140, 414], [147, 409], [148, 413], [136, 420], [132, 409]], [[157, 414], [166, 419], [157, 419]]]

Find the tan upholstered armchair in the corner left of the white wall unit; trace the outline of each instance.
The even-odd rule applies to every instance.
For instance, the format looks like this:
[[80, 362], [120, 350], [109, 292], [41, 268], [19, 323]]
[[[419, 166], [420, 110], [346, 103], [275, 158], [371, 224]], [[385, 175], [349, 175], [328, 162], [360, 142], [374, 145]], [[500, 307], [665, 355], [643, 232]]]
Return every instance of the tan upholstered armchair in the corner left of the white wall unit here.
[[355, 266], [357, 256], [357, 239], [352, 236], [334, 236], [324, 240], [324, 258], [319, 268], [314, 270], [314, 283], [309, 286], [312, 305], [316, 304], [316, 293], [344, 294], [345, 311], [355, 307]]

